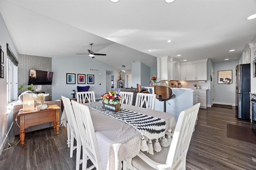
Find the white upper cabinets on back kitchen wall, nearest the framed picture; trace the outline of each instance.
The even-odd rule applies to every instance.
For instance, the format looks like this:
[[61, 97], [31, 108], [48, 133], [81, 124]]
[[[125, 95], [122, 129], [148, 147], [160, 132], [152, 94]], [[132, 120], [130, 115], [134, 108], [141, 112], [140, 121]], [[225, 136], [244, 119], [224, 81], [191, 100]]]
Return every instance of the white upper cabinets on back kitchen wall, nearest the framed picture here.
[[207, 80], [207, 60], [182, 63], [181, 80]]

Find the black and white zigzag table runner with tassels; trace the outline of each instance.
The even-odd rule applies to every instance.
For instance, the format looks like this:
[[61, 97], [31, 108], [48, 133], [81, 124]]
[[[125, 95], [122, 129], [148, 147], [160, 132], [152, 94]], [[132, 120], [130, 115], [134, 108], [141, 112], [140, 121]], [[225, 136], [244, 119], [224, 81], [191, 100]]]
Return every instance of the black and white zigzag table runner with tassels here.
[[[85, 103], [84, 105], [100, 111], [106, 115], [113, 117], [114, 119], [123, 121], [128, 125], [134, 127], [141, 135], [141, 147], [140, 150], [147, 151], [150, 154], [154, 154], [152, 139], [156, 139], [154, 143], [154, 150], [156, 152], [160, 152], [161, 146], [158, 142], [158, 139], [162, 137], [161, 145], [163, 147], [168, 147], [168, 141], [165, 138], [165, 129], [166, 123], [164, 119], [160, 119], [158, 117], [152, 117], [149, 115], [145, 115], [142, 113], [137, 113], [134, 111], [121, 109], [120, 112], [113, 112], [107, 109], [104, 109], [101, 102], [90, 102]], [[145, 137], [147, 137], [148, 144], [146, 143]]]

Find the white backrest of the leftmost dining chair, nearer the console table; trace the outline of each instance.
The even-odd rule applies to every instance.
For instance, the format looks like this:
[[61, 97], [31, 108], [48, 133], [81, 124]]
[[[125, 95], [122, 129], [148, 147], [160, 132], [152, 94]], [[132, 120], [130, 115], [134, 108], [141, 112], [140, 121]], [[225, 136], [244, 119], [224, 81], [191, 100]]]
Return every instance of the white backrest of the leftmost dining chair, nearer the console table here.
[[66, 98], [64, 96], [61, 96], [61, 98], [62, 98], [62, 102], [63, 102], [64, 108], [65, 108], [65, 111], [66, 111], [66, 116], [67, 116], [67, 119], [68, 119], [70, 129], [71, 129], [71, 131], [73, 131], [76, 134], [76, 140], [81, 140], [80, 139], [80, 134], [78, 133], [78, 126], [77, 126], [77, 123], [76, 123], [76, 118], [75, 118], [75, 115], [74, 115], [74, 111], [73, 111], [70, 99]]

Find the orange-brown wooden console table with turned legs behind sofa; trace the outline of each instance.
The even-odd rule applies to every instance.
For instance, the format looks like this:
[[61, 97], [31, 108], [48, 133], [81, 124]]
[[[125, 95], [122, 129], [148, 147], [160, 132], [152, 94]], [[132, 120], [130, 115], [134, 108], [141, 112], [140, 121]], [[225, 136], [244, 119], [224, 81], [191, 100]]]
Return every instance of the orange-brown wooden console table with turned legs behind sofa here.
[[59, 135], [60, 107], [57, 105], [50, 105], [45, 110], [35, 108], [23, 111], [20, 109], [18, 116], [20, 116], [20, 145], [22, 147], [24, 146], [25, 131], [30, 126], [53, 122], [53, 129], [56, 129], [56, 134]]

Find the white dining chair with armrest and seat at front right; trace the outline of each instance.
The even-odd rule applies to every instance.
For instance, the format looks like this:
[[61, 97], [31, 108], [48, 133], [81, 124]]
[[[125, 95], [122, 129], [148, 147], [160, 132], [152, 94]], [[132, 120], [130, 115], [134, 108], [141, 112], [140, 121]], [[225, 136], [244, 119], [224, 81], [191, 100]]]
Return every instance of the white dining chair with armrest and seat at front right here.
[[140, 151], [134, 158], [124, 161], [124, 166], [138, 170], [185, 170], [199, 107], [200, 103], [180, 112], [170, 147], [162, 147], [162, 150], [154, 155]]

